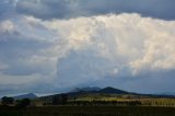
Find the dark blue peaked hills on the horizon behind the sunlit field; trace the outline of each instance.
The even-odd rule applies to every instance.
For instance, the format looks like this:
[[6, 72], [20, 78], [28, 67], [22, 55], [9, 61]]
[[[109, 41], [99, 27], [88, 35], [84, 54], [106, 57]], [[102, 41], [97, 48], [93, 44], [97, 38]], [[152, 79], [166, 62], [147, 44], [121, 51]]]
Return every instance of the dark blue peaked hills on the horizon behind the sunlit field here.
[[[163, 97], [163, 98], [174, 98], [175, 96], [173, 95], [156, 95], [156, 94], [140, 94], [140, 93], [133, 93], [133, 92], [127, 92], [127, 91], [122, 91], [122, 90], [119, 90], [119, 89], [115, 89], [115, 88], [112, 88], [112, 86], [107, 86], [107, 88], [104, 88], [104, 89], [101, 89], [101, 88], [75, 88], [73, 90], [71, 90], [70, 92], [68, 93], [63, 93], [63, 94], [67, 94], [69, 97], [81, 97], [83, 95], [85, 96], [89, 96], [89, 97], [94, 97], [95, 95], [96, 96], [117, 96], [117, 95], [120, 95], [120, 97], [132, 97], [132, 98], [160, 98], [160, 97]], [[42, 96], [39, 97], [39, 100], [42, 101], [50, 101], [51, 97], [54, 96], [59, 96], [61, 94], [54, 94], [54, 95], [48, 95], [48, 96]]]

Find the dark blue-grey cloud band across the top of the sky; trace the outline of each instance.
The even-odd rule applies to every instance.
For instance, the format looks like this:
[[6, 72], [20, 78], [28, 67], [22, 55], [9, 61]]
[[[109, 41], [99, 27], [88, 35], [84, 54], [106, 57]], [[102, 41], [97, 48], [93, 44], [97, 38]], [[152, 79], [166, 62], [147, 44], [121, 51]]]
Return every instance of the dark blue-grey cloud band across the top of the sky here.
[[19, 0], [18, 12], [40, 19], [70, 19], [106, 13], [140, 13], [174, 20], [174, 0]]

